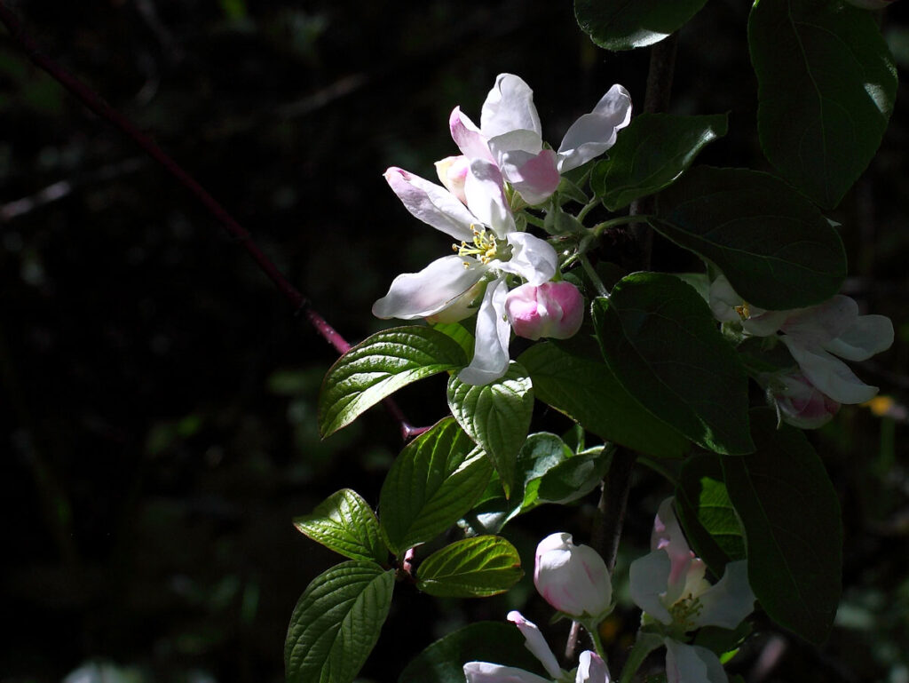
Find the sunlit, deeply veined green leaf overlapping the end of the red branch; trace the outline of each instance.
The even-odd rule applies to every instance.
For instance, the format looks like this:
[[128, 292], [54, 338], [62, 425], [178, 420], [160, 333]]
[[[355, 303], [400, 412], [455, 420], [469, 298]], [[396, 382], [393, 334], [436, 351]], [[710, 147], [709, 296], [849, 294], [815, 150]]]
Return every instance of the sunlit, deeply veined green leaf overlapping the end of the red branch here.
[[401, 387], [466, 362], [458, 342], [431, 327], [377, 332], [329, 368], [319, 392], [319, 431], [327, 437]]

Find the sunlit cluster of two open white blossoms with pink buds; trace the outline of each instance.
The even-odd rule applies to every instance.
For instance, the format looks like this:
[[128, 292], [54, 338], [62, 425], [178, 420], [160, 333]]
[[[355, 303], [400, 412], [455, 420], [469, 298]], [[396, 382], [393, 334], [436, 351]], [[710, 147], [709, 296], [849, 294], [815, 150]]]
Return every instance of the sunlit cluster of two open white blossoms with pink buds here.
[[[472, 385], [504, 375], [513, 327], [530, 339], [574, 335], [584, 315], [583, 298], [573, 285], [551, 282], [559, 273], [553, 246], [518, 228], [514, 210], [520, 202], [512, 206], [508, 197], [516, 192], [526, 205], [544, 202], [562, 173], [613, 146], [630, 117], [628, 93], [614, 85], [553, 151], [544, 148], [533, 92], [516, 75], [496, 78], [480, 126], [455, 107], [449, 124], [462, 155], [436, 163], [441, 186], [401, 168], [385, 171], [413, 216], [454, 238], [455, 253], [419, 273], [395, 277], [373, 314], [436, 322], [476, 314], [474, 357], [458, 375]], [[524, 285], [509, 292], [515, 280]]]

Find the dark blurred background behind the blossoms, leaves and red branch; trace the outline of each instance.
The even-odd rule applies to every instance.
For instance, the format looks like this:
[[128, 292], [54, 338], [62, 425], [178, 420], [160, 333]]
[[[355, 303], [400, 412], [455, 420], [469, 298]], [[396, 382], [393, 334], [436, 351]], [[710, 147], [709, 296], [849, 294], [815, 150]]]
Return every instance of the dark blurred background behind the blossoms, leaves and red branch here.
[[[644, 101], [646, 51], [599, 51], [570, 4], [549, 0], [11, 5], [47, 55], [185, 165], [353, 342], [386, 325], [369, 308], [391, 278], [450, 241], [408, 216], [381, 174], [432, 178], [432, 162], [456, 152], [454, 105], [478, 120], [495, 75], [516, 73], [557, 144], [613, 83]], [[684, 28], [672, 111], [729, 112], [729, 136], [702, 159], [766, 170], [749, 5], [711, 0]], [[896, 3], [883, 28], [909, 82], [906, 10]], [[857, 368], [893, 399], [888, 415], [846, 407], [813, 435], [842, 493], [843, 608], [823, 648], [759, 621], [734, 665], [750, 680], [909, 681], [907, 111], [901, 85], [880, 153], [831, 214], [850, 250], [847, 293], [897, 332]], [[331, 347], [193, 196], [5, 33], [0, 131], [0, 680], [60, 680], [86, 662], [80, 681], [283, 678], [295, 601], [339, 559], [291, 519], [341, 487], [375, 505], [402, 445], [394, 421], [376, 408], [320, 440]], [[696, 267], [659, 241], [655, 258]], [[413, 423], [445, 415], [443, 387], [400, 394]], [[635, 480], [628, 556], [667, 493], [645, 470]], [[589, 538], [594, 504], [516, 523], [525, 566], [546, 533]], [[393, 681], [434, 638], [515, 607], [549, 615], [526, 580], [474, 601], [399, 587], [364, 677]], [[625, 600], [616, 651], [637, 618]]]

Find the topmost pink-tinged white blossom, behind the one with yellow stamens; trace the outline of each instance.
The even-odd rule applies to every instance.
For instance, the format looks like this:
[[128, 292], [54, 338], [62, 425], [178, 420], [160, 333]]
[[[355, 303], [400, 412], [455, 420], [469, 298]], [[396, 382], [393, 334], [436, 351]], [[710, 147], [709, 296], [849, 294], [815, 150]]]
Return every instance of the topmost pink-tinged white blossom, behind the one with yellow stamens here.
[[558, 151], [544, 149], [534, 93], [524, 80], [500, 74], [486, 96], [480, 126], [454, 107], [452, 137], [464, 156], [494, 162], [528, 204], [540, 204], [559, 186], [560, 175], [600, 156], [615, 144], [616, 132], [631, 121], [631, 97], [613, 85], [590, 114], [578, 118]]

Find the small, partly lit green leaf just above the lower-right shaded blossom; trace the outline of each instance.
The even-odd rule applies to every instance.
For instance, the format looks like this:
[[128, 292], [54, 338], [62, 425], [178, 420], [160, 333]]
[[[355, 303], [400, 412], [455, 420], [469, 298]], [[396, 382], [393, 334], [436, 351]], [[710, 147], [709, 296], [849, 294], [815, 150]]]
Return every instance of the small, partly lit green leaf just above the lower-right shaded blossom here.
[[745, 558], [742, 525], [726, 491], [719, 457], [684, 461], [675, 487], [675, 510], [694, 554], [714, 576], [723, 576], [727, 562]]

